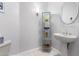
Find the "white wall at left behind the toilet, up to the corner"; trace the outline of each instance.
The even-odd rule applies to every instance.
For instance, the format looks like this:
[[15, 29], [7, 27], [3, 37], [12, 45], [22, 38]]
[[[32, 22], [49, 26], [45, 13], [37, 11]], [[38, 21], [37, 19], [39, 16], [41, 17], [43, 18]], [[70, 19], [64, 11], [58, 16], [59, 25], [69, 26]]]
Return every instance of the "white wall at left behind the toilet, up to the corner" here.
[[19, 52], [19, 3], [4, 3], [5, 11], [0, 13], [0, 33], [5, 40], [11, 40], [10, 54]]

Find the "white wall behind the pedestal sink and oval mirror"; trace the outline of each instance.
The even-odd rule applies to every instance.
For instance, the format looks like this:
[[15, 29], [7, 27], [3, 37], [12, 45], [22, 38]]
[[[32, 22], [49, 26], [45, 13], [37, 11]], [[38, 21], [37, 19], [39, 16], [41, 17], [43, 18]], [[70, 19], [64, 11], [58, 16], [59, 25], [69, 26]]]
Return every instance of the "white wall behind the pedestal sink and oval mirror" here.
[[[48, 11], [52, 13], [51, 22], [52, 22], [52, 34], [54, 32], [69, 32], [79, 37], [79, 16], [74, 24], [65, 25], [61, 22], [61, 7], [63, 2], [52, 2], [48, 3]], [[61, 43], [52, 36], [53, 39], [53, 47], [61, 50]], [[69, 50], [69, 55], [78, 55], [79, 56], [79, 38], [72, 43]], [[63, 51], [62, 51], [63, 52]]]

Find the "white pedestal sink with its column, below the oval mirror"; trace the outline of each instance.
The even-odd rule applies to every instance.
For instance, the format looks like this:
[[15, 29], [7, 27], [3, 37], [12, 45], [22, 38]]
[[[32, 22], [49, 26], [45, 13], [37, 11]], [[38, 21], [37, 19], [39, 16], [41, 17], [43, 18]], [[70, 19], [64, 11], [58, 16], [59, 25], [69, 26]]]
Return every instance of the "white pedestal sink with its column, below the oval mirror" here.
[[68, 43], [74, 42], [77, 39], [76, 35], [72, 35], [71, 33], [54, 33], [54, 37], [60, 41], [60, 51], [62, 55], [67, 56], [68, 55]]

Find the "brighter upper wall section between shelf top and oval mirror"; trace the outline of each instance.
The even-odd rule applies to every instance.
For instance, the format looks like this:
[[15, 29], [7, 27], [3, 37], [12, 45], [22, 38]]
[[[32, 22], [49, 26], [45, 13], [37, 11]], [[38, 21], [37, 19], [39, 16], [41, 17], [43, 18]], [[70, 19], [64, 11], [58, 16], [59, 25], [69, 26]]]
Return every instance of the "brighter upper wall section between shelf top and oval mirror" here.
[[60, 14], [62, 4], [63, 2], [49, 2], [48, 11], [50, 11], [52, 14]]

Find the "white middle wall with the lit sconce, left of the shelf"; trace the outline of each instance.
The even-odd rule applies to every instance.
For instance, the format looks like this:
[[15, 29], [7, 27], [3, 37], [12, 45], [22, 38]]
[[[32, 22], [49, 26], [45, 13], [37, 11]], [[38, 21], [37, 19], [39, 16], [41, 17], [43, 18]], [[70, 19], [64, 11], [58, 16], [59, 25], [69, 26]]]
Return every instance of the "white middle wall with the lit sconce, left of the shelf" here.
[[[39, 47], [39, 23], [42, 11], [47, 11], [47, 3], [20, 3], [20, 51]], [[38, 16], [36, 12], [39, 13]]]

